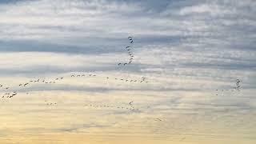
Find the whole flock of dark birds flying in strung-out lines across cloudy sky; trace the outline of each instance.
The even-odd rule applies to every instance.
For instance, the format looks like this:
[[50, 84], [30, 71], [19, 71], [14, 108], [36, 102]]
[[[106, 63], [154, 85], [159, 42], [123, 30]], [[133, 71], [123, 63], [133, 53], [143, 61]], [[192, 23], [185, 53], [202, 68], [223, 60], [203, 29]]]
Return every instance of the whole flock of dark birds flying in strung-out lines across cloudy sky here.
[[[132, 37], [128, 37], [128, 40], [129, 40], [129, 45], [126, 46], [125, 50], [127, 52], [127, 55], [129, 57], [129, 61], [127, 62], [119, 62], [118, 63], [118, 66], [128, 66], [130, 64], [132, 64], [132, 62], [134, 61], [134, 54], [133, 54], [133, 43], [134, 43], [134, 40]], [[90, 78], [97, 78], [98, 77], [98, 74], [71, 74], [69, 76], [67, 76], [69, 78], [82, 78], [82, 77], [90, 77]], [[59, 77], [59, 78], [53, 78], [51, 80], [46, 80], [45, 78], [35, 78], [34, 80], [30, 80], [29, 82], [23, 82], [23, 83], [20, 83], [18, 86], [20, 88], [22, 87], [28, 87], [28, 86], [32, 86], [33, 84], [55, 84], [55, 83], [58, 83], [58, 82], [62, 82], [63, 79], [65, 79], [66, 77]], [[148, 81], [146, 80], [147, 78], [146, 77], [142, 77], [140, 79], [133, 79], [133, 78], [117, 78], [117, 77], [114, 77], [114, 78], [110, 78], [110, 77], [103, 77], [105, 78], [106, 80], [111, 80], [111, 81], [119, 81], [119, 82], [138, 82], [138, 83], [148, 83]], [[234, 89], [231, 89], [231, 90], [216, 90], [216, 91], [240, 91], [241, 89], [241, 85], [240, 85], [240, 82], [242, 82], [240, 79], [237, 79], [236, 80], [236, 86], [234, 87]], [[3, 84], [0, 84], [0, 89], [2, 90], [10, 90], [12, 89], [11, 87], [9, 86], [4, 86]], [[28, 94], [28, 93], [26, 93]], [[2, 94], [2, 98], [14, 98], [15, 96], [18, 95], [18, 92], [17, 90], [13, 90], [11, 92], [5, 92], [4, 94]], [[218, 94], [216, 94], [218, 95]], [[47, 100], [45, 100], [46, 102], [46, 105], [47, 106], [57, 106], [57, 102], [48, 102]], [[110, 106], [110, 105], [107, 105], [107, 104], [98, 104], [98, 105], [95, 105], [95, 104], [86, 104], [85, 106], [87, 107], [90, 107], [90, 108], [101, 108], [101, 109], [118, 109], [118, 110], [130, 110], [130, 111], [138, 111], [139, 109], [138, 108], [134, 108], [133, 106], [133, 101], [129, 102], [128, 103], [129, 106]], [[158, 122], [161, 122], [162, 119], [161, 118], [155, 118], [154, 119], [155, 121], [158, 121]], [[184, 140], [184, 139], [182, 139]]]

